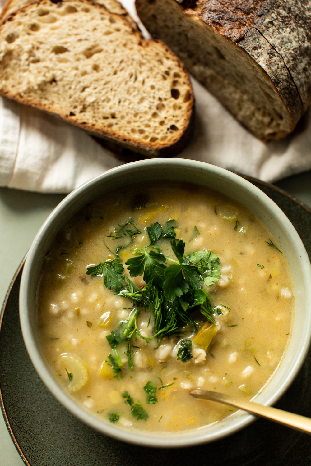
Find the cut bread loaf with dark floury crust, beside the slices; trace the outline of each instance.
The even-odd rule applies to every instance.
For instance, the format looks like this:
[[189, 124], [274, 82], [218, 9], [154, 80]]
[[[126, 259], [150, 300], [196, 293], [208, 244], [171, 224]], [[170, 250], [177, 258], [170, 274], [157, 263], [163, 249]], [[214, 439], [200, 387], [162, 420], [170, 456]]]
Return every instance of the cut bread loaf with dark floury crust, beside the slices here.
[[307, 0], [136, 0], [141, 21], [253, 134], [290, 133], [311, 102]]

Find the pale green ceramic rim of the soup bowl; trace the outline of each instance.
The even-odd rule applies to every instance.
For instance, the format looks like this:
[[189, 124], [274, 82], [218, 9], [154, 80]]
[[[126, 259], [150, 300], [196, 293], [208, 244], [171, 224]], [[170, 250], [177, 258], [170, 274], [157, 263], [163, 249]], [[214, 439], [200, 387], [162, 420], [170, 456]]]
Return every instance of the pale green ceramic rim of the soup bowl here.
[[[89, 187], [90, 185], [96, 185], [99, 182], [104, 182], [104, 180], [108, 177], [117, 176], [118, 173], [126, 173], [131, 170], [139, 169], [140, 167], [152, 168], [152, 166], [158, 164], [165, 165], [168, 167], [180, 165], [184, 168], [189, 167], [203, 171], [208, 171], [217, 176], [228, 178], [240, 187], [248, 190], [249, 192], [254, 193], [256, 197], [260, 200], [260, 202], [263, 202], [266, 206], [268, 206], [271, 212], [273, 212], [273, 215], [276, 216], [279, 220], [281, 220], [283, 224], [286, 225], [286, 228], [290, 232], [290, 235], [295, 239], [297, 249], [299, 250], [299, 256], [301, 258], [301, 266], [304, 268], [304, 273], [306, 274], [306, 280], [308, 280], [308, 282], [311, 283], [310, 261], [298, 233], [296, 232], [294, 226], [292, 226], [292, 224], [290, 223], [290, 220], [283, 213], [283, 211], [259, 188], [249, 183], [249, 181], [247, 181], [245, 178], [242, 178], [241, 176], [231, 171], [227, 171], [215, 165], [182, 158], [153, 158], [147, 160], [139, 160], [137, 162], [131, 162], [129, 164], [119, 165], [116, 168], [112, 168], [111, 170], [105, 171], [97, 177], [91, 178], [83, 185], [76, 188], [73, 192], [69, 193], [69, 195], [66, 196], [66, 198], [63, 199], [62, 202], [55, 207], [53, 212], [51, 212], [51, 214], [48, 216], [48, 219], [41, 226], [27, 254], [20, 287], [20, 321], [22, 335], [24, 338], [26, 348], [28, 350], [28, 354], [33, 365], [35, 366], [35, 369], [39, 377], [47, 386], [49, 391], [51, 391], [51, 393], [55, 396], [55, 398], [76, 418], [80, 419], [84, 424], [89, 425], [97, 431], [115, 439], [122, 440], [124, 442], [129, 442], [132, 444], [142, 446], [176, 448], [194, 446], [221, 439], [227, 435], [237, 432], [246, 425], [249, 425], [249, 423], [252, 422], [255, 419], [255, 417], [247, 413], [244, 413], [240, 416], [239, 413], [235, 413], [235, 415], [237, 415], [238, 420], [235, 421], [233, 425], [229, 425], [216, 432], [210, 432], [206, 434], [204, 434], [203, 432], [204, 428], [196, 429], [194, 431], [187, 431], [181, 433], [178, 432], [177, 434], [172, 435], [157, 435], [149, 432], [148, 434], [145, 434], [144, 432], [130, 431], [103, 422], [101, 419], [90, 414], [89, 411], [84, 410], [81, 405], [77, 404], [76, 401], [67, 392], [65, 392], [59, 384], [57, 384], [55, 377], [52, 376], [51, 372], [47, 368], [47, 362], [44, 361], [41, 357], [39, 350], [34, 342], [33, 330], [31, 328], [30, 317], [28, 313], [28, 285], [33, 263], [36, 258], [36, 253], [38, 248], [40, 247], [41, 238], [43, 238], [44, 235], [48, 232], [50, 226], [53, 224], [55, 220], [57, 220], [60, 213], [68, 205], [70, 205], [72, 201], [79, 197], [80, 193], [82, 193], [85, 190], [85, 188]], [[129, 185], [130, 184], [131, 183], [129, 183]], [[311, 287], [308, 291], [308, 302], [311, 303]], [[309, 304], [308, 319], [304, 325], [304, 334], [307, 335], [307, 338], [304, 339], [304, 341], [302, 341], [300, 344], [297, 361], [293, 365], [292, 370], [288, 373], [287, 377], [283, 380], [282, 386], [280, 386], [279, 389], [275, 391], [275, 393], [271, 394], [270, 397], [268, 397], [265, 400], [265, 405], [274, 404], [283, 395], [283, 393], [288, 389], [288, 387], [292, 383], [293, 379], [296, 377], [302, 364], [304, 363], [304, 359], [307, 355], [307, 351], [309, 349], [311, 341], [310, 310], [311, 309]]]

